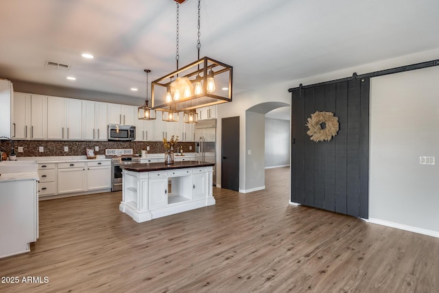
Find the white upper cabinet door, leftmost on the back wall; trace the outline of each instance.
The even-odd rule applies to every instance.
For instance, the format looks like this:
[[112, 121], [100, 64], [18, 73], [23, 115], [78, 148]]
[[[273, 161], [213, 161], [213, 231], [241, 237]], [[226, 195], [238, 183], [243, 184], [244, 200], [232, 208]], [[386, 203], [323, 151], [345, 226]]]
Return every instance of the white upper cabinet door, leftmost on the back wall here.
[[14, 113], [12, 113], [11, 135], [13, 139], [30, 137], [30, 94], [14, 93]]

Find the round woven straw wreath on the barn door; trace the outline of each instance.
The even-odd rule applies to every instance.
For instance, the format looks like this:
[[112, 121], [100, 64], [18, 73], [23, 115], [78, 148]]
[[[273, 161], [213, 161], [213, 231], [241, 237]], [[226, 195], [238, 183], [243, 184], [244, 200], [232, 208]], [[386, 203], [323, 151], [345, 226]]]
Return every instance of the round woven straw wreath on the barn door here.
[[[326, 128], [322, 129], [322, 123], [326, 124]], [[311, 141], [330, 141], [338, 132], [338, 117], [331, 112], [319, 112], [311, 114], [308, 118], [309, 130], [307, 134], [311, 137]]]

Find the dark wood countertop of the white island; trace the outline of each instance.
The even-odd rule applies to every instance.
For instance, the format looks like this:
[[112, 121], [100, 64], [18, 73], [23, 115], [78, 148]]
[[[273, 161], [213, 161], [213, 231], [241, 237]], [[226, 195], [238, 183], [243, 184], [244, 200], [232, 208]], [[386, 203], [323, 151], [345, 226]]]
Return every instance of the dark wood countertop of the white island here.
[[161, 163], [134, 163], [121, 165], [121, 168], [132, 172], [151, 172], [151, 171], [163, 171], [171, 169], [184, 169], [184, 168], [196, 168], [196, 167], [208, 167], [213, 166], [215, 163], [208, 163], [202, 161], [181, 161], [174, 162], [172, 165], [165, 165]]

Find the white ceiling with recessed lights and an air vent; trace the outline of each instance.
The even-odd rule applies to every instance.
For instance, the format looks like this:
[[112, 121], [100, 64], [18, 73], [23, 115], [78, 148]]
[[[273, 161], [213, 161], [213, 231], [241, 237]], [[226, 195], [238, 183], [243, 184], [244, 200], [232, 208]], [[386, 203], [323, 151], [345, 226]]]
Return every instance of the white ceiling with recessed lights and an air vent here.
[[[180, 67], [197, 59], [197, 6], [180, 5]], [[250, 91], [436, 49], [438, 12], [437, 0], [202, 0], [200, 56]], [[3, 1], [0, 26], [0, 78], [143, 100], [143, 69], [150, 82], [176, 69], [173, 0]]]

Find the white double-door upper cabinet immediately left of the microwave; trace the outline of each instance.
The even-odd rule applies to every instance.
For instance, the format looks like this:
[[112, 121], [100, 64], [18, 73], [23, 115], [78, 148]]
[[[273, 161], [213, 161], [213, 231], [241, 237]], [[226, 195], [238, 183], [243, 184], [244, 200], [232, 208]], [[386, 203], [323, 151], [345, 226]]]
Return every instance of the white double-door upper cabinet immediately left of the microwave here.
[[82, 101], [82, 139], [107, 140], [107, 111], [106, 103]]

